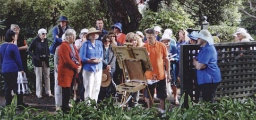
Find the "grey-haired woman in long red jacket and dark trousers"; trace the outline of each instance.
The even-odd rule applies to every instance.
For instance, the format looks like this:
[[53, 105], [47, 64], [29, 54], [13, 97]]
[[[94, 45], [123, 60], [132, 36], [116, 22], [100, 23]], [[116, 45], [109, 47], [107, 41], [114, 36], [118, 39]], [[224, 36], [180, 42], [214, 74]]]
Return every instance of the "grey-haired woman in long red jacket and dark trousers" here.
[[65, 32], [66, 41], [59, 50], [58, 85], [62, 87], [62, 111], [70, 110], [68, 102], [71, 95], [71, 88], [76, 80], [76, 74], [81, 70], [81, 59], [76, 46], [76, 32], [68, 29]]

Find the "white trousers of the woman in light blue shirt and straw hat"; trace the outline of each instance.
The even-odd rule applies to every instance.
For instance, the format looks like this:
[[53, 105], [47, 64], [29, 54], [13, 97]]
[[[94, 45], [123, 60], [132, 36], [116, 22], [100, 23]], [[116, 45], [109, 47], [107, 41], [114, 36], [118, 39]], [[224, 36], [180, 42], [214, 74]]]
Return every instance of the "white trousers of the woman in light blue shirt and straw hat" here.
[[102, 70], [96, 70], [95, 73], [83, 70], [83, 78], [85, 87], [85, 99], [90, 97], [97, 102], [102, 84]]

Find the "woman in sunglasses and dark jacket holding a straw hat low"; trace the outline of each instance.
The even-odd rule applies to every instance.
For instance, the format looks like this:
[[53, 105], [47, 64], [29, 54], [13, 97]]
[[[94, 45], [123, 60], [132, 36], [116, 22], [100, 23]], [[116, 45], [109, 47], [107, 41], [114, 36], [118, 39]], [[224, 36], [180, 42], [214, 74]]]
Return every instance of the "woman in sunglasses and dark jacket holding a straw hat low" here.
[[[111, 38], [109, 35], [104, 35], [102, 38], [103, 43], [103, 73], [101, 90], [98, 96], [98, 103], [100, 103], [105, 97], [110, 98], [111, 93], [115, 91], [115, 83], [112, 81], [113, 73], [116, 71], [116, 56], [112, 50]], [[110, 73], [111, 76], [108, 74]], [[104, 75], [105, 74], [105, 75]], [[103, 76], [107, 75], [107, 79]], [[111, 82], [112, 81], [112, 82]]]

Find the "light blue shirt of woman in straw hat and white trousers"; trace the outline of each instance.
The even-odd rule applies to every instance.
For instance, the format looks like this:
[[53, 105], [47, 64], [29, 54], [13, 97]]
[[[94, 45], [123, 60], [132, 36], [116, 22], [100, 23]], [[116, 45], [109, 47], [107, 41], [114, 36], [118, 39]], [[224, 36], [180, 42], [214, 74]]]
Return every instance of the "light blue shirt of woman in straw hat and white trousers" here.
[[86, 63], [86, 61], [92, 57], [103, 59], [102, 41], [95, 40], [94, 47], [93, 43], [90, 40], [87, 40], [83, 43], [83, 46], [80, 48], [79, 55], [81, 57], [83, 69], [85, 71], [91, 71], [95, 73], [96, 67], [98, 67], [98, 70], [102, 70], [102, 62], [99, 64]]

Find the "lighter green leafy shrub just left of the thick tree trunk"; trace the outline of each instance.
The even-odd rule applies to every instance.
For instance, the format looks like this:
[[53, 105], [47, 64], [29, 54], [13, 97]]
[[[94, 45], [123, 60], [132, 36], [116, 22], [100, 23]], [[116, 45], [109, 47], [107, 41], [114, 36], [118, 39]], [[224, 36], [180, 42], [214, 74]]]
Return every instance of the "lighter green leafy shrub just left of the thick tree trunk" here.
[[79, 35], [84, 28], [96, 27], [96, 20], [101, 18], [104, 21], [104, 29], [111, 30], [110, 12], [105, 2], [99, 0], [74, 0], [62, 11], [67, 16], [70, 26]]

